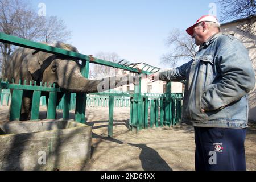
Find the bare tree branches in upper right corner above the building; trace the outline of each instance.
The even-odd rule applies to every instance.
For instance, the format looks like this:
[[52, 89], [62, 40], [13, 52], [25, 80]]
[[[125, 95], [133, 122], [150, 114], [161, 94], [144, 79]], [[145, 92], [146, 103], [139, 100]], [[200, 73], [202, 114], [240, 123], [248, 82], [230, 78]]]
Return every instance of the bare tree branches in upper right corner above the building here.
[[252, 32], [255, 27], [256, 0], [219, 0], [221, 8], [221, 22], [230, 19], [243, 19], [239, 29], [243, 32]]

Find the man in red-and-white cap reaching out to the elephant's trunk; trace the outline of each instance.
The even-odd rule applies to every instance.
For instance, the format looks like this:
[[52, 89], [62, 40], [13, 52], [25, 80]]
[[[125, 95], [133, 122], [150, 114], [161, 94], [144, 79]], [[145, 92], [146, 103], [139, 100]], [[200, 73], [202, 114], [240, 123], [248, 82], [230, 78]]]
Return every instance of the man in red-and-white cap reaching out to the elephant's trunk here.
[[247, 93], [255, 86], [247, 49], [221, 34], [214, 16], [202, 16], [186, 31], [200, 46], [195, 57], [149, 79], [187, 80], [182, 121], [195, 129], [196, 170], [246, 170]]

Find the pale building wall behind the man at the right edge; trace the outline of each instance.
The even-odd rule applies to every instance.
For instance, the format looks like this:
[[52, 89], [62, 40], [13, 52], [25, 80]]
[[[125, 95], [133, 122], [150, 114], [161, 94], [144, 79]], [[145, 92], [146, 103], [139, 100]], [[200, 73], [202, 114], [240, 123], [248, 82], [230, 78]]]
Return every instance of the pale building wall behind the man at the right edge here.
[[[241, 40], [249, 52], [251, 63], [256, 73], [256, 23], [253, 33], [245, 33], [240, 31], [238, 27], [240, 22], [233, 22], [221, 26], [221, 32], [233, 35]], [[256, 75], [255, 75], [256, 77]], [[249, 93], [249, 119], [256, 121], [256, 88]]]

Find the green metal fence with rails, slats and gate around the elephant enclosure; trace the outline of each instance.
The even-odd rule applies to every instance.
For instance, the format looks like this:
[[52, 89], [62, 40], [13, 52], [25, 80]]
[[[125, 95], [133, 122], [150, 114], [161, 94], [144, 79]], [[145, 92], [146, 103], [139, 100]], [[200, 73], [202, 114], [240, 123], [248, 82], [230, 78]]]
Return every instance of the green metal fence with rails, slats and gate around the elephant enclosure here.
[[[64, 49], [47, 46], [46, 44], [31, 42], [30, 40], [17, 38], [15, 36], [6, 35], [0, 33], [0, 42], [14, 44], [16, 46], [26, 47], [35, 49], [37, 51], [43, 51], [48, 53], [53, 53], [56, 55], [65, 56], [71, 59], [81, 60], [81, 73], [84, 77], [89, 76], [89, 63], [101, 64], [114, 68], [125, 69], [130, 72], [138, 73], [139, 75], [150, 74], [148, 71], [138, 72], [137, 69], [133, 67], [127, 67], [126, 65], [121, 65], [113, 63], [110, 61], [105, 61], [101, 59], [96, 59], [90, 56], [82, 55], [80, 53], [67, 51]], [[163, 125], [171, 126], [176, 125], [180, 121], [181, 117], [181, 106], [182, 106], [182, 94], [172, 94], [171, 93], [171, 82], [167, 83], [167, 93], [162, 95], [152, 95], [152, 94], [141, 94], [141, 78], [139, 78], [139, 84], [135, 85], [135, 90], [133, 94], [126, 93], [97, 93], [97, 94], [85, 94], [85, 93], [69, 93], [65, 92], [63, 101], [59, 104], [58, 108], [63, 109], [63, 118], [69, 118], [69, 111], [75, 109], [75, 121], [80, 123], [85, 123], [85, 106], [108, 106], [109, 107], [109, 125], [108, 125], [108, 135], [112, 137], [113, 135], [113, 109], [114, 106], [130, 106], [130, 121], [129, 126], [131, 130], [139, 131], [141, 129], [146, 129], [148, 124], [150, 127], [159, 127]], [[1, 81], [1, 80], [0, 80]], [[56, 100], [57, 92], [63, 92], [60, 88], [55, 88], [54, 85], [36, 84], [19, 82], [19, 84], [13, 84], [6, 81], [1, 81], [0, 84], [0, 95], [1, 103], [2, 98], [5, 97], [4, 89], [13, 89], [13, 97], [11, 97], [11, 109], [10, 109], [10, 121], [19, 120], [20, 109], [22, 104], [22, 94], [23, 90], [31, 90], [33, 92], [32, 99], [32, 111], [31, 120], [39, 118], [39, 105], [41, 92], [49, 92], [49, 99], [47, 105], [47, 119], [55, 119], [56, 115]], [[97, 99], [96, 99], [97, 98]], [[128, 100], [127, 102], [126, 100]], [[7, 98], [6, 98], [7, 99]], [[125, 101], [126, 102], [125, 102]], [[124, 101], [124, 102], [122, 102]], [[72, 108], [75, 106], [75, 108]], [[150, 114], [149, 114], [150, 113]], [[148, 118], [150, 117], [150, 118]], [[148, 122], [148, 119], [150, 119]]]

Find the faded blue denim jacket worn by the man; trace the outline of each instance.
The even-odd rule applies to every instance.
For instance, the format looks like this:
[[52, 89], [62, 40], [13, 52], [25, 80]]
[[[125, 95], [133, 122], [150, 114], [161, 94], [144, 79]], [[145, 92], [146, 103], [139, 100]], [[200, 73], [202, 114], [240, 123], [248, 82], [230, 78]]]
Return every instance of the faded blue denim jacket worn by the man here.
[[247, 49], [234, 36], [214, 35], [191, 61], [159, 72], [159, 80], [187, 80], [183, 122], [199, 127], [247, 127], [247, 93], [255, 86], [255, 73]]

